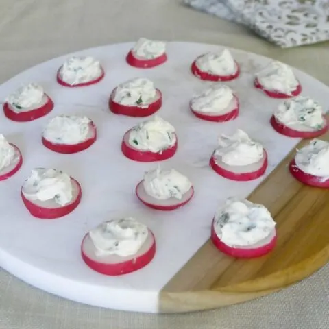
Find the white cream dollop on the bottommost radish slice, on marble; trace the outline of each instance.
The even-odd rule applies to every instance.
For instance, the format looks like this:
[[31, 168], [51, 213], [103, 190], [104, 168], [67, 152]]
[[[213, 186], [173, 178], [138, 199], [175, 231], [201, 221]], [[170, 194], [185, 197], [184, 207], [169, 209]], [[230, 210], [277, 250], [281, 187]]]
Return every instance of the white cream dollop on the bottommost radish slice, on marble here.
[[147, 226], [132, 217], [106, 221], [89, 232], [98, 257], [132, 256], [141, 249], [148, 234]]

